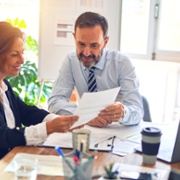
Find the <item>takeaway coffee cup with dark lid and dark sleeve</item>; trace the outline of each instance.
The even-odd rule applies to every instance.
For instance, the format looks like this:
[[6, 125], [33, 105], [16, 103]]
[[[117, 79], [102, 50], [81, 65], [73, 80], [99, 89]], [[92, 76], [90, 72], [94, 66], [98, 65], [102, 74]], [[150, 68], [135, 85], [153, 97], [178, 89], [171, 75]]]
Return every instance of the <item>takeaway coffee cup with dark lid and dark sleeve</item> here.
[[142, 153], [144, 164], [155, 164], [160, 146], [161, 130], [156, 127], [146, 127], [141, 131]]

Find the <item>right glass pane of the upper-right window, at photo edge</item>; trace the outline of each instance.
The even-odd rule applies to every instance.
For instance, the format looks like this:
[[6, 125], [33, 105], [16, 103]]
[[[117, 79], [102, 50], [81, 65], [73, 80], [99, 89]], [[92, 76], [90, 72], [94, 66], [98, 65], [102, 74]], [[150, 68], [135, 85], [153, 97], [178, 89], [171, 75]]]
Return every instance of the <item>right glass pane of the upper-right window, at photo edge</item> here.
[[157, 59], [180, 60], [180, 1], [161, 0], [157, 29]]

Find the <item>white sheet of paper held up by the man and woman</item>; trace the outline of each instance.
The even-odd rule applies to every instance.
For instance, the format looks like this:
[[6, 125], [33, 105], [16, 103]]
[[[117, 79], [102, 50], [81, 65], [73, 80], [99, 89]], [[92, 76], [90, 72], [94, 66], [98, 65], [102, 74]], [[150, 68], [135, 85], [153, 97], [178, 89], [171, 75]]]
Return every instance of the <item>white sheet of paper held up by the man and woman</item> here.
[[119, 90], [120, 87], [105, 91], [84, 93], [74, 113], [79, 116], [79, 119], [72, 128], [86, 124], [97, 117], [101, 110], [115, 101]]

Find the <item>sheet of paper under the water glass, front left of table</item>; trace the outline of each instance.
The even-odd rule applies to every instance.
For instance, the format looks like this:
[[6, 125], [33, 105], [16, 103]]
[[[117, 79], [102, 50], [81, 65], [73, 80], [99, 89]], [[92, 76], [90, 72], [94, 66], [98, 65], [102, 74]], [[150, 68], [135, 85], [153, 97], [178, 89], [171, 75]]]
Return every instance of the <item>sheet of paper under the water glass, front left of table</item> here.
[[17, 157], [22, 158], [37, 158], [38, 159], [38, 168], [37, 174], [49, 175], [49, 176], [63, 176], [63, 163], [62, 159], [59, 156], [53, 155], [34, 155], [28, 153], [17, 153], [12, 161], [5, 168], [6, 172], [14, 172], [15, 167], [13, 160]]

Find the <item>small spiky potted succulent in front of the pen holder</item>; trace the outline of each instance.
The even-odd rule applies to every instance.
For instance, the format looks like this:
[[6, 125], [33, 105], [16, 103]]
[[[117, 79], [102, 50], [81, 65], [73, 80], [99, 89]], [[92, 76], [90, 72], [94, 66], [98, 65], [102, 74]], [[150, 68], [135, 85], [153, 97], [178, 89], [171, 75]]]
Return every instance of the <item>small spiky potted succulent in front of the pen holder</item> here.
[[104, 166], [105, 174], [103, 179], [118, 179], [118, 170], [114, 170], [114, 163]]

